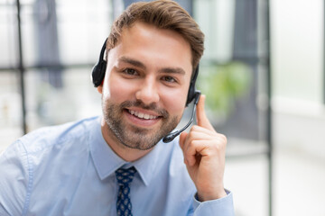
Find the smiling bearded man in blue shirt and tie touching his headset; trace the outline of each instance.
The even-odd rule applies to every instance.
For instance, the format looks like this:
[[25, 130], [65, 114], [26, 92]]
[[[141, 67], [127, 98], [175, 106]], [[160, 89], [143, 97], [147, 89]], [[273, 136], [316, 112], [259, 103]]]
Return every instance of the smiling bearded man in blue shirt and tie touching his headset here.
[[0, 215], [234, 215], [223, 185], [227, 139], [209, 123], [204, 95], [198, 125], [160, 141], [189, 103], [203, 38], [172, 1], [128, 7], [93, 71], [103, 117], [36, 130], [7, 148]]

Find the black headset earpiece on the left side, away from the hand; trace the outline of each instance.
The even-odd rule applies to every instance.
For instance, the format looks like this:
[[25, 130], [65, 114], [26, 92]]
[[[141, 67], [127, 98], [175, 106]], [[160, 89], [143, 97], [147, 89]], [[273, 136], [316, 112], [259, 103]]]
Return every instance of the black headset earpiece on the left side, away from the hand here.
[[91, 76], [92, 76], [92, 82], [95, 87], [98, 87], [99, 85], [102, 84], [105, 76], [107, 61], [104, 60], [104, 54], [105, 54], [106, 47], [107, 47], [107, 40], [105, 40], [104, 45], [100, 50], [98, 63], [92, 69]]

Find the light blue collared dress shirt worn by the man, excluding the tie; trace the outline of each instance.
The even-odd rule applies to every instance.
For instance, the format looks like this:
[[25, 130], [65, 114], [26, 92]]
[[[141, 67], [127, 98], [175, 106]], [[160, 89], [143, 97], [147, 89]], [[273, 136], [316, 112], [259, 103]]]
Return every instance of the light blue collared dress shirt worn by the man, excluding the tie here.
[[0, 215], [116, 215], [115, 171], [135, 166], [131, 202], [135, 216], [233, 216], [232, 193], [209, 202], [183, 163], [178, 139], [159, 142], [133, 163], [103, 139], [100, 117], [35, 130], [0, 156]]

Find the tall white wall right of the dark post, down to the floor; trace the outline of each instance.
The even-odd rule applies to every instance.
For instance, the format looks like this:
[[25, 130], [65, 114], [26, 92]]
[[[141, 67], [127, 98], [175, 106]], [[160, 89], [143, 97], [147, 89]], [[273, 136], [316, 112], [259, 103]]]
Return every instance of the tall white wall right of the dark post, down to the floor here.
[[325, 157], [323, 2], [271, 1], [274, 144]]

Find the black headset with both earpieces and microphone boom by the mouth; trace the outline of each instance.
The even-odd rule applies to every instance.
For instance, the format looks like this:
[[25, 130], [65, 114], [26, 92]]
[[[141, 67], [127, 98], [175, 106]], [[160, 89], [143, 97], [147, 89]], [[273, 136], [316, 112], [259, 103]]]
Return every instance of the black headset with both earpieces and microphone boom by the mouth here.
[[[106, 47], [107, 47], [107, 40], [105, 40], [103, 47], [100, 50], [98, 63], [92, 68], [91, 78], [95, 87], [101, 85], [104, 80], [104, 76], [107, 68], [107, 61], [104, 59]], [[190, 79], [190, 87], [189, 87], [189, 92], [186, 101], [186, 106], [188, 106], [194, 100], [194, 106], [191, 113], [190, 121], [181, 130], [176, 130], [174, 132], [167, 134], [163, 138], [163, 142], [165, 143], [171, 142], [172, 139], [180, 135], [183, 130], [186, 130], [190, 126], [191, 122], [193, 121], [196, 105], [199, 103], [199, 99], [200, 99], [200, 91], [195, 88], [195, 83], [198, 75], [199, 75], [199, 65], [198, 67], [195, 68], [194, 73]]]

